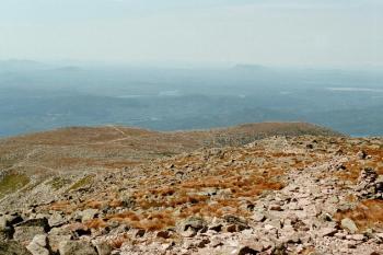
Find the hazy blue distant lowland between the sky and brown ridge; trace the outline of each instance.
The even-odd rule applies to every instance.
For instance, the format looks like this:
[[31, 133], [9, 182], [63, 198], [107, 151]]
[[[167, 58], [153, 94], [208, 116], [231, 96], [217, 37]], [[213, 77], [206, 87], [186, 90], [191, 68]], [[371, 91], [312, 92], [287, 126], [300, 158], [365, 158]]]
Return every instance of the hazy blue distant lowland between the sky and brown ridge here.
[[138, 68], [0, 61], [0, 137], [72, 126], [158, 131], [305, 121], [383, 135], [379, 70]]

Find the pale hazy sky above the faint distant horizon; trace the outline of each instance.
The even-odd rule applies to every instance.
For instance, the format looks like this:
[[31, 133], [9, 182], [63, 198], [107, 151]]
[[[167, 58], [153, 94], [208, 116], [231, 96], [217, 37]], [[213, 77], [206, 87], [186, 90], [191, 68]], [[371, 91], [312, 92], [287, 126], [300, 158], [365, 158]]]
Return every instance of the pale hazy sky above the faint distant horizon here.
[[0, 0], [0, 59], [382, 66], [382, 0]]

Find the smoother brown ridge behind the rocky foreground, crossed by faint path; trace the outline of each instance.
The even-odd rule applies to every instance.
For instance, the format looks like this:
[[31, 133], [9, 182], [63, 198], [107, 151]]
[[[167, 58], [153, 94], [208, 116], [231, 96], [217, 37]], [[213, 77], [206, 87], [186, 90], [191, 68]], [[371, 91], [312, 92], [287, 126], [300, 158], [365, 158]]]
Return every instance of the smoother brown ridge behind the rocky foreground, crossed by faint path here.
[[86, 187], [98, 173], [200, 148], [242, 146], [272, 135], [340, 136], [304, 123], [263, 123], [212, 130], [158, 132], [118, 126], [72, 127], [0, 139], [0, 205], [48, 201]]

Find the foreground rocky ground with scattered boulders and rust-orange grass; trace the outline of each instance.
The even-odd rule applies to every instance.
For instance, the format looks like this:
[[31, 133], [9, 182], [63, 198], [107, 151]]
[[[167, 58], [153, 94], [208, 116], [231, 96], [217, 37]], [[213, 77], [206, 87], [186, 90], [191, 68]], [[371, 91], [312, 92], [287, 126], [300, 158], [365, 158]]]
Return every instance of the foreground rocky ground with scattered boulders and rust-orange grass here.
[[62, 179], [1, 201], [0, 255], [383, 254], [382, 138], [278, 136]]

